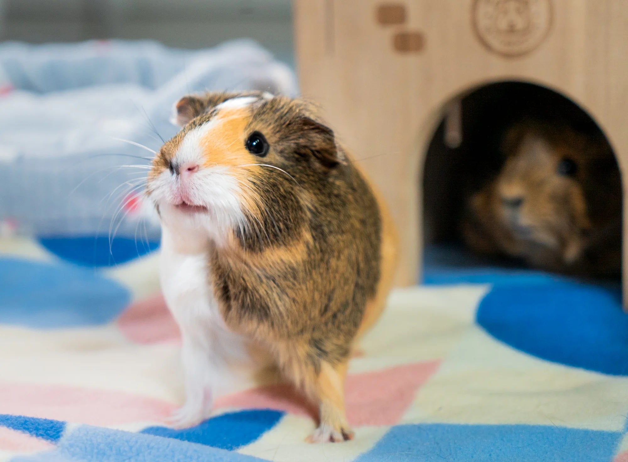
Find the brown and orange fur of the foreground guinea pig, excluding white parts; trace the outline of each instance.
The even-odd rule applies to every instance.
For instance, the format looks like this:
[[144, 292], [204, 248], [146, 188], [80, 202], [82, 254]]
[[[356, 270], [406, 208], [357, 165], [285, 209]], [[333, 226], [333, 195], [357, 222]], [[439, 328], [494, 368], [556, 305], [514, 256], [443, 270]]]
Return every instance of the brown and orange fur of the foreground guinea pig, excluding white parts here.
[[[211, 121], [215, 105], [234, 96], [181, 99], [178, 117], [188, 123], [163, 146], [151, 175], [170, 168], [185, 134]], [[392, 285], [393, 223], [310, 105], [274, 97], [224, 110], [230, 114], [220, 136], [202, 146], [207, 164], [229, 166], [245, 185], [246, 226], [232, 230], [227, 244], [212, 247], [208, 283], [227, 326], [266, 345], [286, 377], [318, 402], [321, 425], [336, 435], [332, 441], [349, 439], [347, 362]], [[264, 158], [244, 147], [254, 131], [271, 146]]]

